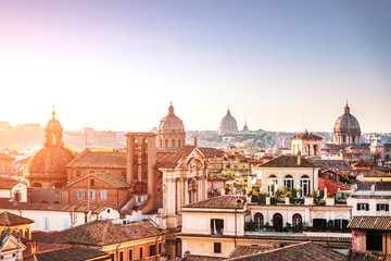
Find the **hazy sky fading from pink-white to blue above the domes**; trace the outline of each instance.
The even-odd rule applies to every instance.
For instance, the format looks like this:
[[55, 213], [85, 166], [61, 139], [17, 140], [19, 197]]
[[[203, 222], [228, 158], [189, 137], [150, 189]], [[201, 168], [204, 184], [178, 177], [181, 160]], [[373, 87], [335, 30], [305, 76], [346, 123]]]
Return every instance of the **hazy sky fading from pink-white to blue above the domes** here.
[[0, 121], [144, 132], [391, 133], [391, 1], [0, 2]]

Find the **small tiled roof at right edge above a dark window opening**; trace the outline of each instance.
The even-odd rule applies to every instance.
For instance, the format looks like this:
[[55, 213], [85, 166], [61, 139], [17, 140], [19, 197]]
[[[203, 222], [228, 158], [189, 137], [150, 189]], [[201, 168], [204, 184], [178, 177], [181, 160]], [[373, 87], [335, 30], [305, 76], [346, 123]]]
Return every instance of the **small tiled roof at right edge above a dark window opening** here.
[[353, 216], [348, 227], [358, 229], [391, 231], [391, 216]]

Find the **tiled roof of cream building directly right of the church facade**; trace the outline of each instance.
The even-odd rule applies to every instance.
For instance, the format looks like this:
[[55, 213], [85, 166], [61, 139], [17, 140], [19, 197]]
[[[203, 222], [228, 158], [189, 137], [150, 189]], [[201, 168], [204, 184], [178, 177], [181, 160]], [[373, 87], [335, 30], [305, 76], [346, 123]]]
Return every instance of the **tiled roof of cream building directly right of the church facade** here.
[[243, 209], [245, 197], [224, 195], [213, 197], [203, 201], [186, 204], [184, 208], [206, 208], [206, 209]]

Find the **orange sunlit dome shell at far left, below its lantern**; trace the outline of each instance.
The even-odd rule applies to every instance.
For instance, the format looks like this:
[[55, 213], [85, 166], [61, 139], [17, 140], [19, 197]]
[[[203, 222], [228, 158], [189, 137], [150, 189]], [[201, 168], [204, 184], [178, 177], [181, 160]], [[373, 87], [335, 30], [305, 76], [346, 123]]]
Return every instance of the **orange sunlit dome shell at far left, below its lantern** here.
[[65, 166], [75, 156], [62, 147], [50, 147], [38, 150], [28, 161], [28, 174], [66, 174]]

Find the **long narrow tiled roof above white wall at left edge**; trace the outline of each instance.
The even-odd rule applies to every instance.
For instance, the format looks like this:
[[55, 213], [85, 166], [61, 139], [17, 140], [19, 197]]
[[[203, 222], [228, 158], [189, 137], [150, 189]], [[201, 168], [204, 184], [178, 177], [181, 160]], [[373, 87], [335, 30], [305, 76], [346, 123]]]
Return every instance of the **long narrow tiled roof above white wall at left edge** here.
[[41, 211], [59, 211], [59, 212], [85, 212], [89, 210], [93, 214], [99, 214], [104, 211], [108, 206], [78, 206], [78, 204], [59, 204], [59, 203], [30, 203], [30, 202], [18, 202], [15, 207], [14, 202], [2, 202], [0, 209], [14, 210], [15, 208], [21, 210], [41, 210]]

